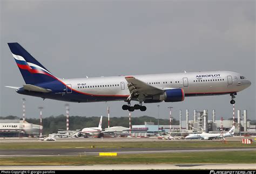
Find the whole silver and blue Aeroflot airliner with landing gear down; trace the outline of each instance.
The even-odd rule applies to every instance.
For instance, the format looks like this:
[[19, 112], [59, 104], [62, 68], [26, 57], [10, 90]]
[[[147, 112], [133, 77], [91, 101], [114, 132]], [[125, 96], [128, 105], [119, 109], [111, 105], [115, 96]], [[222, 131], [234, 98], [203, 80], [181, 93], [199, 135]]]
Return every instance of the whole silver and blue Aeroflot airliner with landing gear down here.
[[[145, 111], [144, 103], [178, 102], [187, 96], [235, 95], [249, 87], [245, 76], [230, 71], [125, 75], [100, 78], [59, 79], [18, 43], [8, 43], [25, 80], [15, 88], [24, 95], [69, 102], [125, 101], [124, 110]], [[10, 86], [8, 86], [10, 87]], [[131, 106], [131, 101], [138, 104]]]

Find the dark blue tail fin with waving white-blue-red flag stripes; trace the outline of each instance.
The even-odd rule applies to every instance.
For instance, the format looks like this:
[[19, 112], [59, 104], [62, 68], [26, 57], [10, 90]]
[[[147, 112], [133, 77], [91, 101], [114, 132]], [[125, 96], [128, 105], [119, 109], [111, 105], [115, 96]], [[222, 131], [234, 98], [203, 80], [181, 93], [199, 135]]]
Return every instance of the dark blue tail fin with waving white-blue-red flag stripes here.
[[26, 84], [35, 85], [37, 83], [57, 80], [54, 75], [33, 58], [21, 45], [18, 43], [8, 43], [8, 45]]

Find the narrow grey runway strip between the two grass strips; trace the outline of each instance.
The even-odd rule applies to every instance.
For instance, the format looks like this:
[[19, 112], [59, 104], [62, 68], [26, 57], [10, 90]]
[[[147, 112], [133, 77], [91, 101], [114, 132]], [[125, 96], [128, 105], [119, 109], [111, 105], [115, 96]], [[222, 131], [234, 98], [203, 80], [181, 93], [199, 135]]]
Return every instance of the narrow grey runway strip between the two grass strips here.
[[256, 148], [68, 148], [68, 149], [14, 149], [0, 150], [0, 157], [31, 156], [76, 156], [99, 155], [99, 152], [117, 152], [118, 154], [159, 154], [181, 152], [214, 152], [214, 151], [256, 151]]

